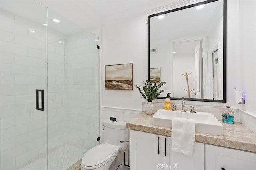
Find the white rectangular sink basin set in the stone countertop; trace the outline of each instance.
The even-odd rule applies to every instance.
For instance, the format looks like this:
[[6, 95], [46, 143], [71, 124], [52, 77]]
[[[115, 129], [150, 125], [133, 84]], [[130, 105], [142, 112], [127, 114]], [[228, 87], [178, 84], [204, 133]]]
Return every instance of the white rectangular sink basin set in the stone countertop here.
[[206, 112], [190, 113], [159, 109], [153, 116], [153, 125], [172, 128], [174, 117], [196, 120], [196, 132], [223, 135], [223, 125], [212, 113]]

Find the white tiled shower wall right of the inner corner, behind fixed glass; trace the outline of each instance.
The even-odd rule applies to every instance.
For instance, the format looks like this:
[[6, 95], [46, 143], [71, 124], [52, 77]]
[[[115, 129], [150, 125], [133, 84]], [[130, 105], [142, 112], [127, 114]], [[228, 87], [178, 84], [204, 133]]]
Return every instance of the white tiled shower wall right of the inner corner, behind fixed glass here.
[[[98, 41], [89, 39], [95, 40], [98, 36], [83, 31], [67, 37], [65, 58], [67, 140], [86, 149], [99, 143], [99, 53], [96, 48]], [[85, 50], [91, 46], [91, 50]]]

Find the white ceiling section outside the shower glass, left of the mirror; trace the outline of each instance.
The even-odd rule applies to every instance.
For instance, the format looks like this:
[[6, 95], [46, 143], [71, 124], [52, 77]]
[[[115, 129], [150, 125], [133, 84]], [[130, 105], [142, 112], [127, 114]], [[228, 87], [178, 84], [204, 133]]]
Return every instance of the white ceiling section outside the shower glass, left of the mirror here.
[[48, 9], [86, 28], [147, 14], [151, 10], [188, 0], [36, 0]]

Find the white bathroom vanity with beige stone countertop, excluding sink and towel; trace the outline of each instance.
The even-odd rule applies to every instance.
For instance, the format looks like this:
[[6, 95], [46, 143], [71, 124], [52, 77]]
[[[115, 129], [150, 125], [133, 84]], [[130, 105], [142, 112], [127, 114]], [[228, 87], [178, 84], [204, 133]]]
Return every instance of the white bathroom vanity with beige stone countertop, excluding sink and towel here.
[[186, 156], [172, 151], [171, 127], [152, 125], [153, 115], [142, 112], [126, 122], [131, 170], [256, 169], [256, 134], [242, 124], [222, 123], [223, 136], [196, 133], [193, 155]]

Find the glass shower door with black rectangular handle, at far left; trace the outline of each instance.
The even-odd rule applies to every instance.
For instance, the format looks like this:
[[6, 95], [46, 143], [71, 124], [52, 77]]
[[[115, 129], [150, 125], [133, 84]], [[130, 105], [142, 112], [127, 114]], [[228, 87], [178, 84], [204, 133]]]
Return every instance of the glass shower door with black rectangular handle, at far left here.
[[[46, 170], [47, 9], [35, 1], [0, 3], [0, 169]], [[30, 167], [40, 158], [40, 168]]]

